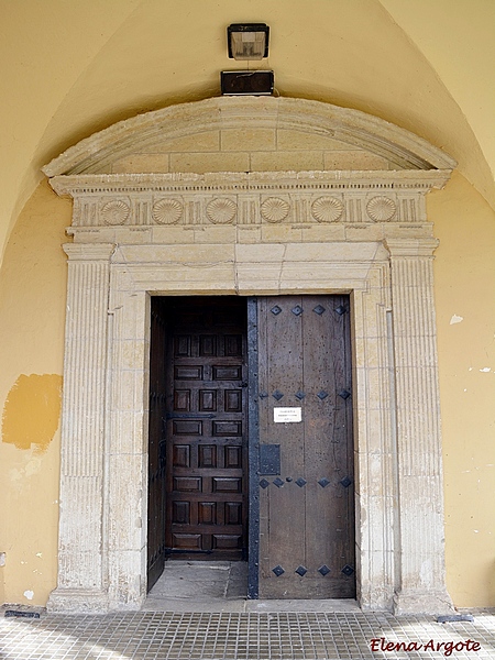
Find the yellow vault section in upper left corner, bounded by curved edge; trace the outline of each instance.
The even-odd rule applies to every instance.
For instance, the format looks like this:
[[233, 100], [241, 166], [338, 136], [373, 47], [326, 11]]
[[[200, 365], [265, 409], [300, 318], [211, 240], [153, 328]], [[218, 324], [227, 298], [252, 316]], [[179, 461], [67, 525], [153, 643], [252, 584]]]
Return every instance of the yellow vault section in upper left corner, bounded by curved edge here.
[[141, 2], [0, 0], [0, 260], [19, 212], [42, 179], [35, 154], [47, 123]]

